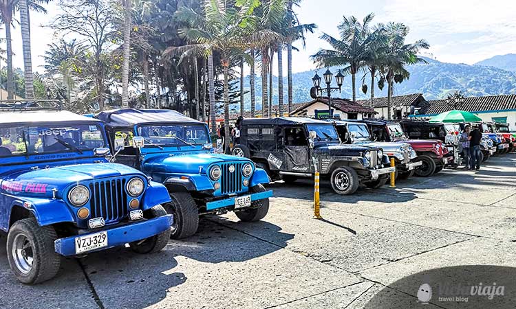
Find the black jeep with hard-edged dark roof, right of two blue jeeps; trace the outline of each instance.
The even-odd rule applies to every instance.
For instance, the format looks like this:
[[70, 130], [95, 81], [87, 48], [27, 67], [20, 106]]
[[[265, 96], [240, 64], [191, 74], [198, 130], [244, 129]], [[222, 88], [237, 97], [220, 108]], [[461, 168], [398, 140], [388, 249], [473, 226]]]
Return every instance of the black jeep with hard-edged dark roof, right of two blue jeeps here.
[[396, 171], [381, 148], [341, 144], [332, 124], [315, 119], [243, 119], [240, 142], [233, 155], [252, 159], [272, 180], [290, 183], [318, 171], [338, 194], [353, 194], [358, 185], [380, 187]]

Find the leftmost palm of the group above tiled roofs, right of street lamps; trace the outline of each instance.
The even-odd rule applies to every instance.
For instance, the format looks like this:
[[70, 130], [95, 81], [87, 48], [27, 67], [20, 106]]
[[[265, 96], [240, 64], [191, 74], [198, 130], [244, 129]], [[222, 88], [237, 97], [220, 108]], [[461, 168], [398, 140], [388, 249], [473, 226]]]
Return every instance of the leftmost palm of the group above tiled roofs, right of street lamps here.
[[365, 65], [370, 45], [378, 35], [378, 32], [369, 30], [369, 23], [373, 18], [373, 13], [368, 14], [361, 23], [355, 16], [344, 16], [338, 25], [340, 40], [329, 34], [321, 36], [333, 49], [321, 49], [311, 56], [320, 67], [346, 66], [343, 71], [352, 76], [353, 101], [356, 101], [356, 73]]

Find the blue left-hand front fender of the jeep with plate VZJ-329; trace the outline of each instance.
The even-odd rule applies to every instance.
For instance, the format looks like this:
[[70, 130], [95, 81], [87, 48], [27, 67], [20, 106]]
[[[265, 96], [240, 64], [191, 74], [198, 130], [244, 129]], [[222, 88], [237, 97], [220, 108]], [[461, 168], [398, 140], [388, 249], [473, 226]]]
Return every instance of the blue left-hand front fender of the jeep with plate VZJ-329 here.
[[[25, 206], [24, 205], [25, 203]], [[63, 200], [49, 200], [47, 198], [19, 198], [12, 202], [12, 207], [21, 206], [28, 209], [39, 222], [39, 225], [53, 225], [61, 222], [76, 222], [71, 209]], [[9, 214], [9, 216], [11, 216]]]

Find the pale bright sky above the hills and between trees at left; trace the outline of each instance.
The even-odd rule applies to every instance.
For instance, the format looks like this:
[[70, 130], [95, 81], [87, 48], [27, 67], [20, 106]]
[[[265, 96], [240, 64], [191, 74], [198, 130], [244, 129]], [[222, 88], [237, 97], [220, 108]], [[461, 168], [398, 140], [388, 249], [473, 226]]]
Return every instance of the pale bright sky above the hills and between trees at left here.
[[[56, 3], [47, 5], [47, 9], [47, 15], [31, 15], [35, 71], [43, 71], [41, 56], [45, 46], [58, 39], [52, 30], [41, 27], [58, 12]], [[427, 54], [440, 61], [473, 64], [491, 56], [516, 53], [516, 1], [303, 0], [297, 12], [302, 23], [316, 23], [319, 28], [314, 34], [308, 34], [305, 50], [294, 52], [294, 72], [314, 67], [310, 54], [327, 47], [319, 39], [321, 32], [336, 36], [336, 25], [343, 15], [362, 19], [369, 12], [376, 14], [375, 23], [396, 21], [408, 25], [411, 29], [408, 41], [425, 38], [431, 45]], [[15, 67], [23, 67], [19, 31], [19, 27], [13, 31]], [[297, 47], [301, 48], [301, 44]]]

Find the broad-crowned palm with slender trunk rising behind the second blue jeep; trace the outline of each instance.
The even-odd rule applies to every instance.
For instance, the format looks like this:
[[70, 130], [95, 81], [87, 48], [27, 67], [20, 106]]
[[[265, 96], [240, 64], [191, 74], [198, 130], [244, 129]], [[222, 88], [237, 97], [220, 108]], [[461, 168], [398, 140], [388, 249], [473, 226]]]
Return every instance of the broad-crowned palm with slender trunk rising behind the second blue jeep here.
[[[181, 47], [169, 47], [165, 50], [164, 56], [180, 54], [180, 62], [184, 57], [191, 55], [204, 55], [208, 57], [208, 69], [213, 68], [213, 52], [218, 52], [222, 69], [224, 72], [224, 126], [226, 127], [226, 152], [229, 151], [229, 68], [232, 60], [246, 58], [251, 61], [245, 53], [255, 45], [265, 45], [276, 39], [274, 34], [266, 30], [256, 30], [256, 18], [253, 15], [259, 2], [254, 0], [241, 0], [234, 8], [228, 8], [226, 1], [211, 0], [204, 6], [205, 14], [199, 14], [191, 8], [183, 7], [178, 11], [178, 16], [186, 27], [179, 29], [179, 34], [189, 45]], [[211, 64], [209, 64], [211, 62]], [[210, 85], [211, 87], [211, 85]], [[215, 101], [215, 100], [214, 100]], [[215, 132], [215, 106], [211, 106], [212, 130]]]

